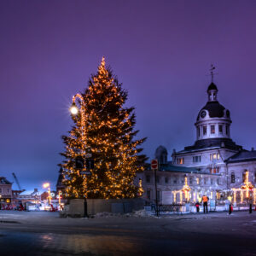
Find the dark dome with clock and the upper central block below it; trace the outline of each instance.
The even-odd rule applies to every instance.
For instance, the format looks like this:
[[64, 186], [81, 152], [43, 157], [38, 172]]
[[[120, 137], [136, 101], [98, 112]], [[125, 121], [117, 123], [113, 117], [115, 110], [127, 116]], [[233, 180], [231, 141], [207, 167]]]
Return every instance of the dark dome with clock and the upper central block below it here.
[[216, 84], [208, 86], [207, 94], [208, 102], [201, 108], [195, 121], [195, 144], [173, 153], [172, 161], [174, 165], [196, 166], [200, 170], [220, 173], [224, 160], [242, 150], [242, 147], [230, 137], [230, 110], [218, 102]]

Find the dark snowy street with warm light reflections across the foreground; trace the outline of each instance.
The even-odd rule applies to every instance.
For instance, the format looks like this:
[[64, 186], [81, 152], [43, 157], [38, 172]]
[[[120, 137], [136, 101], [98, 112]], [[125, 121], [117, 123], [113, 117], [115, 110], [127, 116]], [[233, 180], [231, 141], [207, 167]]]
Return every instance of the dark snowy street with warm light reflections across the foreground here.
[[59, 218], [0, 211], [0, 255], [256, 255], [256, 212]]

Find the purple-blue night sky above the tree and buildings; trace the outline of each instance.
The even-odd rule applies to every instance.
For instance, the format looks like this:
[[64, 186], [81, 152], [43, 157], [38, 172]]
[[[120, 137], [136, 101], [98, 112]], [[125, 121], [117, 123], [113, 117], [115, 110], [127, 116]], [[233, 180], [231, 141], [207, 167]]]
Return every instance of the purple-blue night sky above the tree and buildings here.
[[0, 32], [0, 176], [15, 172], [24, 189], [55, 186], [72, 96], [102, 55], [149, 158], [195, 142], [211, 63], [231, 137], [256, 148], [256, 1], [2, 0]]

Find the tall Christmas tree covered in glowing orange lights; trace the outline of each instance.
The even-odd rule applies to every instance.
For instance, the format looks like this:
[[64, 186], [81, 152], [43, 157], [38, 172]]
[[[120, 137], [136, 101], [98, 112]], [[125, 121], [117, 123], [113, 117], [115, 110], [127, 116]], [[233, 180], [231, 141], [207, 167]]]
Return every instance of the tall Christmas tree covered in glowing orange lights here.
[[[79, 98], [79, 112], [72, 116], [74, 125], [63, 136], [66, 160], [64, 170], [66, 196], [74, 198], [133, 198], [142, 195], [134, 184], [137, 172], [143, 172], [145, 156], [138, 148], [145, 138], [136, 139], [134, 108], [126, 108], [127, 91], [122, 89], [106, 68], [102, 58], [96, 75]], [[75, 98], [73, 98], [73, 107]], [[76, 112], [73, 112], [76, 113]], [[91, 154], [94, 168], [80, 175], [76, 161]]]

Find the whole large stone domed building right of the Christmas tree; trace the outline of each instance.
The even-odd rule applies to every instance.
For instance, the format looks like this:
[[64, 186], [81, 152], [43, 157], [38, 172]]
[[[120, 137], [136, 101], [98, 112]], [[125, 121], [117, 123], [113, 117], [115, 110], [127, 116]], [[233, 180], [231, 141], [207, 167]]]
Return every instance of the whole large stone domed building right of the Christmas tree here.
[[[207, 88], [207, 104], [196, 116], [194, 145], [177, 152], [173, 149], [172, 161], [167, 161], [165, 147], [155, 151], [159, 161], [156, 183], [160, 204], [198, 201], [202, 195], [214, 201], [225, 191], [240, 188], [246, 182], [246, 172], [247, 182], [255, 186], [256, 151], [247, 151], [232, 141], [231, 123], [230, 110], [218, 102], [218, 87], [212, 82]], [[141, 176], [143, 197], [155, 201], [154, 173], [148, 166]], [[186, 188], [190, 189], [187, 194]], [[242, 196], [239, 200], [242, 201]]]

